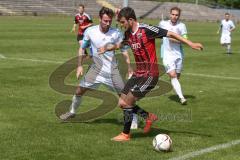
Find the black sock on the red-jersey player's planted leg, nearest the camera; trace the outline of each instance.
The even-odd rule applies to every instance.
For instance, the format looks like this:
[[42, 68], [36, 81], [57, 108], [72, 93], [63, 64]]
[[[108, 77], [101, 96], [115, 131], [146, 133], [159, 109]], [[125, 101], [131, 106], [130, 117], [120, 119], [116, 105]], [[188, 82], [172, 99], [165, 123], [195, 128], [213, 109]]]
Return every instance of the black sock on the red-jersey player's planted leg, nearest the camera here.
[[130, 133], [130, 128], [132, 124], [132, 119], [133, 119], [133, 109], [132, 108], [125, 108], [123, 109], [123, 120], [124, 120], [124, 128], [123, 128], [123, 133], [129, 134]]

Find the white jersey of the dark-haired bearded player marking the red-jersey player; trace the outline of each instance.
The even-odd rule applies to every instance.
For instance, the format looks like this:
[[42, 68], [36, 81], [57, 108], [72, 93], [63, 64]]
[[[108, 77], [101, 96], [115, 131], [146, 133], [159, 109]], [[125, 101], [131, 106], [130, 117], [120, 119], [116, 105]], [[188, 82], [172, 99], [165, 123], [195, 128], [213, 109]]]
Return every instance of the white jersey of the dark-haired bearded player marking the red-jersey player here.
[[83, 43], [90, 43], [92, 59], [100, 74], [111, 73], [111, 70], [117, 67], [117, 60], [114, 51], [107, 51], [99, 55], [97, 49], [105, 46], [107, 43], [120, 43], [122, 39], [122, 33], [115, 28], [109, 28], [107, 33], [103, 33], [100, 31], [100, 26], [96, 25], [89, 27], [85, 31]]

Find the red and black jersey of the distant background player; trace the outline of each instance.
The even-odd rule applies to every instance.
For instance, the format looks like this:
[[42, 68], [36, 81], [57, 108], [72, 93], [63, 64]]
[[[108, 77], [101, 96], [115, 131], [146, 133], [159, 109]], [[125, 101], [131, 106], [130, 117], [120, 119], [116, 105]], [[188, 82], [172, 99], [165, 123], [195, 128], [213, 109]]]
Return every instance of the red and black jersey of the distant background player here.
[[92, 23], [92, 19], [91, 17], [87, 14], [87, 13], [83, 13], [82, 15], [80, 13], [75, 15], [75, 20], [74, 20], [75, 24], [78, 24], [78, 34], [79, 35], [83, 35], [85, 29], [81, 29], [80, 26], [86, 26], [89, 23]]

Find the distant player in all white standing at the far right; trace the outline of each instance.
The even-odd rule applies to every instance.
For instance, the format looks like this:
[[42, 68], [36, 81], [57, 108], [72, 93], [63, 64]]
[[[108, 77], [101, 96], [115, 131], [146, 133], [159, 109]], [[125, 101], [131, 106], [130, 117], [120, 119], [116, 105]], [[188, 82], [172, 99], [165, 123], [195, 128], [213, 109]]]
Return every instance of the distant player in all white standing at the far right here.
[[221, 21], [221, 25], [217, 31], [218, 34], [220, 30], [222, 31], [220, 43], [227, 48], [227, 54], [231, 54], [231, 33], [235, 30], [235, 25], [230, 20], [229, 13], [225, 13], [225, 19]]

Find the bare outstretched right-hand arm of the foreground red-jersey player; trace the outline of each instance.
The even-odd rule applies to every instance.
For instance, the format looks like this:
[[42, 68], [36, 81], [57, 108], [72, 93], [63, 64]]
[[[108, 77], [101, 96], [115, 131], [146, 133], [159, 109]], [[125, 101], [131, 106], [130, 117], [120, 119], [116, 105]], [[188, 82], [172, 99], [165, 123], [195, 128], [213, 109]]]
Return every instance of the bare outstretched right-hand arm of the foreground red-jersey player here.
[[178, 41], [187, 44], [192, 49], [196, 49], [196, 50], [202, 50], [203, 49], [203, 46], [202, 46], [201, 43], [193, 43], [192, 41], [190, 41], [188, 39], [185, 39], [185, 38], [181, 37], [180, 35], [178, 35], [174, 32], [168, 31], [167, 32], [167, 37], [177, 39]]

